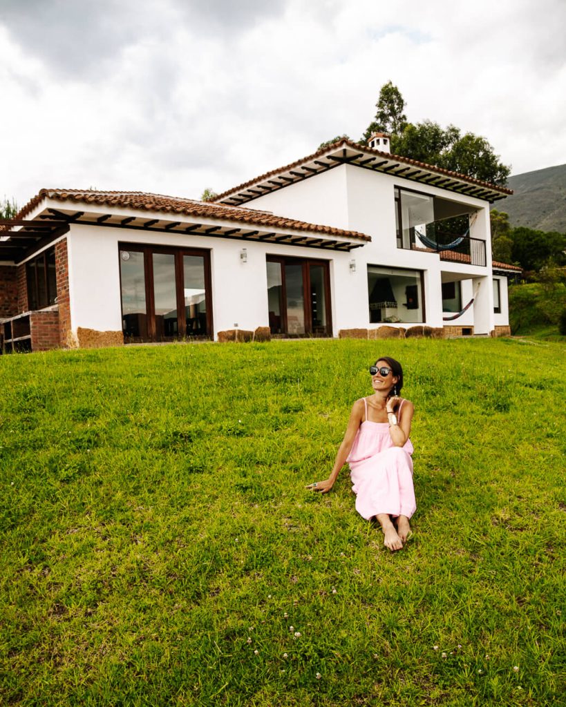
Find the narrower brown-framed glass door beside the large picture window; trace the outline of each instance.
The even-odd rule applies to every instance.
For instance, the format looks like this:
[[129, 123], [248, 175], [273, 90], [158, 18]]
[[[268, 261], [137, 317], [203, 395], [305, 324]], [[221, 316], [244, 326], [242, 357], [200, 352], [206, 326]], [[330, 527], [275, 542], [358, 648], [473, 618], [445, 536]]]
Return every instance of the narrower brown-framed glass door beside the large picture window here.
[[328, 262], [267, 256], [267, 305], [272, 334], [331, 337]]

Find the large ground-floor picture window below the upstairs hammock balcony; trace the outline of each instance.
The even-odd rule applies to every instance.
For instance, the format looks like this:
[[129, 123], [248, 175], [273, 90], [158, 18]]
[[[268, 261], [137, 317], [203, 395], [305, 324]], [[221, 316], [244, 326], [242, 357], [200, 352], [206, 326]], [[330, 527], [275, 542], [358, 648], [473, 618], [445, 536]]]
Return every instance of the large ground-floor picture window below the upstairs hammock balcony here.
[[368, 265], [369, 321], [424, 322], [420, 270]]

